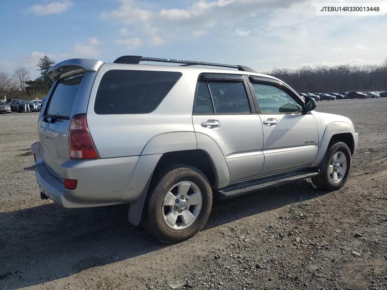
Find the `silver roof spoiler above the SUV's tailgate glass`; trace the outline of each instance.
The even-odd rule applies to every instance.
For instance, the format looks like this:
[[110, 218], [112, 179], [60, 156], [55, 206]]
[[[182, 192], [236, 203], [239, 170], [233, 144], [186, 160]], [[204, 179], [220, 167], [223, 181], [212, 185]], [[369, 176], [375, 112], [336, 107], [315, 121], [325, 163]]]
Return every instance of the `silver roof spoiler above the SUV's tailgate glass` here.
[[73, 58], [63, 60], [53, 65], [47, 72], [47, 76], [54, 81], [83, 72], [96, 72], [103, 65], [100, 60], [88, 58]]

